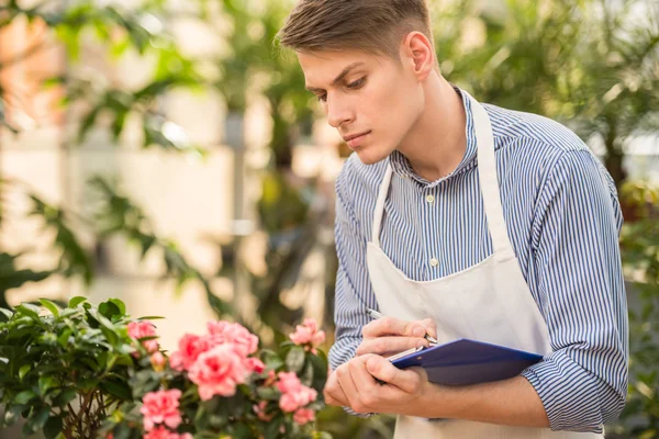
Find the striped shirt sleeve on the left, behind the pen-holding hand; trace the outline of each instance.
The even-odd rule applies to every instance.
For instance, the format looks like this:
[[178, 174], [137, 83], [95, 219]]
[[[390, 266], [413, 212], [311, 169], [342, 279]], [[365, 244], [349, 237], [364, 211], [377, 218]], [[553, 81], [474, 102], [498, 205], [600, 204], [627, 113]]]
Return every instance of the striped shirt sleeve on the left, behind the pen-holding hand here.
[[[370, 322], [367, 307], [377, 308], [375, 294], [366, 267], [366, 235], [355, 215], [349, 196], [349, 161], [336, 179], [336, 219], [334, 227], [338, 270], [334, 297], [335, 341], [330, 349], [332, 370], [355, 357], [361, 344], [361, 328]], [[347, 413], [359, 417], [372, 414]]]

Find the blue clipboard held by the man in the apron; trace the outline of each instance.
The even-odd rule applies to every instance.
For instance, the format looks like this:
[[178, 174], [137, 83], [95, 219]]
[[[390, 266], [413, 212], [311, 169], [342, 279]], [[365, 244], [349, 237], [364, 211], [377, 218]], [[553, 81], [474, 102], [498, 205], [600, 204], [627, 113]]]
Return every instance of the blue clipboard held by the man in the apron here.
[[505, 380], [541, 359], [537, 353], [465, 338], [389, 358], [399, 369], [421, 367], [427, 372], [428, 381], [444, 385]]

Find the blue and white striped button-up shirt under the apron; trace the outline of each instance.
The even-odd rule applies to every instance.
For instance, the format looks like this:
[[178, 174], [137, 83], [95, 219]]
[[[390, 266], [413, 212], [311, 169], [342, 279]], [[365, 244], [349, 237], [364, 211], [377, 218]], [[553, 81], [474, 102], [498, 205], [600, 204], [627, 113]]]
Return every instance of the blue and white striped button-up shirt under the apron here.
[[[377, 308], [366, 244], [388, 161], [393, 175], [381, 247], [410, 279], [443, 278], [492, 254], [473, 120], [465, 95], [462, 102], [467, 150], [447, 177], [427, 181], [394, 151], [370, 166], [353, 154], [337, 178], [333, 369], [355, 356], [370, 320], [366, 308]], [[617, 240], [623, 218], [615, 184], [588, 146], [559, 123], [483, 106], [492, 122], [509, 236], [551, 339], [552, 353], [523, 375], [552, 429], [601, 432], [627, 394], [627, 307]], [[433, 258], [439, 263], [431, 264]]]

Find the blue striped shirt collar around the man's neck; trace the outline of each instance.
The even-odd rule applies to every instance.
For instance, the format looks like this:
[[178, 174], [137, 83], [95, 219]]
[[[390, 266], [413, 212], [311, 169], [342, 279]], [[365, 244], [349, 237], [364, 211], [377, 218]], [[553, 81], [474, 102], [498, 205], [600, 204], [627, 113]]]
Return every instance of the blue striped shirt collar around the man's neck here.
[[394, 150], [389, 156], [389, 160], [391, 164], [391, 169], [394, 173], [399, 175], [403, 178], [411, 178], [422, 184], [423, 189], [434, 188], [444, 180], [451, 178], [458, 173], [470, 169], [476, 164], [476, 154], [477, 154], [477, 144], [476, 144], [476, 133], [473, 131], [473, 115], [471, 113], [471, 102], [469, 98], [465, 94], [462, 90], [458, 87], [453, 86], [459, 97], [462, 99], [462, 104], [465, 105], [465, 114], [467, 115], [467, 124], [466, 124], [466, 133], [467, 133], [467, 149], [465, 151], [465, 156], [462, 160], [458, 165], [458, 167], [450, 172], [448, 176], [440, 178], [439, 180], [428, 181], [423, 177], [418, 176], [412, 169], [412, 165], [410, 165], [410, 160], [399, 150]]

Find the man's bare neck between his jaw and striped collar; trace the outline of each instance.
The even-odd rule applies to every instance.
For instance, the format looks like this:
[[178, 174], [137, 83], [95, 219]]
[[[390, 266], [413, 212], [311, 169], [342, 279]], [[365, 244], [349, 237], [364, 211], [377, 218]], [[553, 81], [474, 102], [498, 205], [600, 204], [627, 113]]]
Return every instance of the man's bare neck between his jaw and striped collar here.
[[446, 79], [433, 75], [424, 85], [423, 113], [398, 150], [420, 177], [435, 181], [453, 172], [467, 149], [465, 106]]

